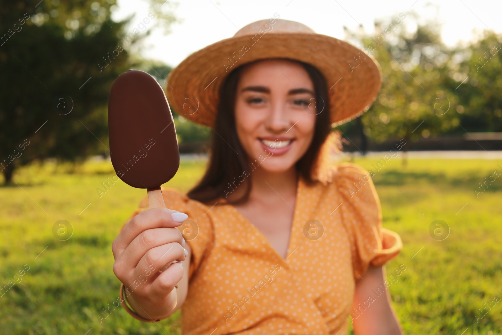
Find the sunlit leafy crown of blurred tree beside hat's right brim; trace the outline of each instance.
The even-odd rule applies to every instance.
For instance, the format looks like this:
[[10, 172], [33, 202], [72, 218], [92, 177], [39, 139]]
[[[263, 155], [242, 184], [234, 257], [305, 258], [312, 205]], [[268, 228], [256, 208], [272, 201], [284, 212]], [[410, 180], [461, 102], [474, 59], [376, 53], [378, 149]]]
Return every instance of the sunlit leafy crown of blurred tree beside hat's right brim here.
[[438, 36], [419, 27], [413, 37], [400, 35], [399, 38], [404, 48], [398, 42], [395, 46], [388, 44], [387, 48], [379, 46], [374, 51], [382, 67], [384, 85], [370, 111], [362, 117], [362, 122], [377, 141], [393, 137], [414, 140], [420, 134], [427, 134], [427, 137], [445, 133], [456, 125], [454, 113], [438, 116], [444, 111], [434, 109], [437, 102], [444, 103], [446, 109], [448, 95], [450, 103], [456, 102], [454, 95], [445, 94], [439, 84], [442, 72], [439, 66], [444, 64], [434, 64], [435, 59], [445, 52], [436, 50], [432, 55], [425, 52], [435, 46]]

